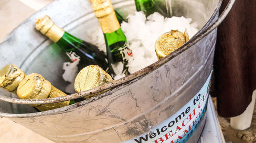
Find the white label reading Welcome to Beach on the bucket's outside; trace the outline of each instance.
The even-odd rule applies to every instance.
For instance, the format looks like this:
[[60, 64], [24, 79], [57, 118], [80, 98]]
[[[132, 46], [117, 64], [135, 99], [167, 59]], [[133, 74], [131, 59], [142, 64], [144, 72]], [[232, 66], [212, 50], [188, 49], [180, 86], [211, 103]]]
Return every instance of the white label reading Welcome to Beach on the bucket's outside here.
[[197, 129], [204, 116], [209, 95], [211, 74], [201, 90], [173, 116], [156, 127], [148, 127], [149, 131], [123, 143], [183, 143]]

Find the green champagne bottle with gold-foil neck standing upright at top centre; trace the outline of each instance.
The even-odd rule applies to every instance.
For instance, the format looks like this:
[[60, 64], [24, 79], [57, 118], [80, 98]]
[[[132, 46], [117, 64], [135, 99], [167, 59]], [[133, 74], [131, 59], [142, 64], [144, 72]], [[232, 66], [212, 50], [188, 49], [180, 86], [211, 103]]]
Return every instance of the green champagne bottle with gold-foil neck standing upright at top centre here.
[[126, 37], [121, 30], [110, 0], [91, 0], [91, 2], [104, 35], [109, 68], [113, 73], [112, 77], [117, 74], [114, 72], [113, 66], [118, 62], [123, 63], [122, 74], [129, 75], [126, 65], [129, 58], [133, 56], [133, 52], [126, 46]]

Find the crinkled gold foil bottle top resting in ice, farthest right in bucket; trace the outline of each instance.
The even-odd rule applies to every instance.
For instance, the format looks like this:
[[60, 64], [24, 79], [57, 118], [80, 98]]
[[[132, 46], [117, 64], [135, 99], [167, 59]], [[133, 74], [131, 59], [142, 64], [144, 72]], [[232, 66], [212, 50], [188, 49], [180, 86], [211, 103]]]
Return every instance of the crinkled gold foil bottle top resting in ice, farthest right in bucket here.
[[155, 43], [155, 51], [158, 59], [172, 53], [189, 40], [187, 30], [184, 34], [178, 30], [160, 35]]

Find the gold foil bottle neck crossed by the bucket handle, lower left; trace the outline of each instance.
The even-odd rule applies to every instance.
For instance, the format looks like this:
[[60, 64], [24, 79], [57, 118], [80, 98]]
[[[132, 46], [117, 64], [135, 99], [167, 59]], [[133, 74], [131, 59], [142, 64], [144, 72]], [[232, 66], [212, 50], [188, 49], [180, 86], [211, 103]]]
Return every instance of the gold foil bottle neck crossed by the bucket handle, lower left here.
[[[66, 96], [67, 94], [63, 93], [59, 89], [55, 88], [52, 86], [52, 90], [48, 98], [55, 98], [55, 97], [60, 97], [60, 96]], [[40, 104], [36, 106], [37, 109], [40, 111], [46, 111], [46, 110], [52, 110], [64, 106], [68, 106], [70, 101], [64, 101], [64, 102], [58, 102], [58, 103], [50, 103], [50, 104]]]

